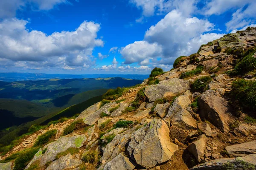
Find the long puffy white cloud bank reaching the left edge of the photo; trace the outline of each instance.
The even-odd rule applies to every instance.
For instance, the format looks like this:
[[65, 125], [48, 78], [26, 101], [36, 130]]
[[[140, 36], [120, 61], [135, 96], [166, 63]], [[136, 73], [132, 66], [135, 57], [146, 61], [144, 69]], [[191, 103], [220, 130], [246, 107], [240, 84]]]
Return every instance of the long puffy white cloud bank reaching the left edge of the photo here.
[[75, 31], [54, 32], [26, 28], [28, 21], [17, 18], [0, 22], [0, 58], [12, 61], [57, 62], [61, 57], [67, 66], [93, 65], [94, 47], [103, 46], [97, 39], [98, 23], [84, 21]]

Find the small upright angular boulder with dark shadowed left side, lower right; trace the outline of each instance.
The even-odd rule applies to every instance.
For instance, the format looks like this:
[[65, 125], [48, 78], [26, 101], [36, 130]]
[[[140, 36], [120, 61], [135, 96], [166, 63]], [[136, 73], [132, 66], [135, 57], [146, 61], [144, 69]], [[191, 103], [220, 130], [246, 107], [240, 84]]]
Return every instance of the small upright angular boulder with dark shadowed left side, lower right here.
[[192, 142], [187, 149], [190, 153], [195, 156], [195, 159], [198, 162], [201, 162], [204, 159], [204, 151], [206, 150], [207, 137], [203, 134], [198, 137], [198, 139]]

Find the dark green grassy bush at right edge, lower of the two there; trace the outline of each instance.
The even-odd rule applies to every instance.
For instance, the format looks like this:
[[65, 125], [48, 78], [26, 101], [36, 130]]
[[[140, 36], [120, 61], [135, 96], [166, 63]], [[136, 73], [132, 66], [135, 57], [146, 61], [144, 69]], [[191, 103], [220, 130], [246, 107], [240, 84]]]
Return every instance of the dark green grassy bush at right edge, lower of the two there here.
[[238, 79], [232, 84], [231, 94], [244, 109], [256, 108], [256, 81]]

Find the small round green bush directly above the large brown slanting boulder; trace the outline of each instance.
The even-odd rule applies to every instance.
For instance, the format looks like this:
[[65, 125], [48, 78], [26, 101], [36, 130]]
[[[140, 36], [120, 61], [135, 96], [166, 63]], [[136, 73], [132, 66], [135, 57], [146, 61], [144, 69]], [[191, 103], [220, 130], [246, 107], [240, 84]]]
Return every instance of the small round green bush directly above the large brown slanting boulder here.
[[192, 91], [202, 92], [205, 90], [206, 86], [212, 81], [209, 76], [200, 77], [192, 83]]

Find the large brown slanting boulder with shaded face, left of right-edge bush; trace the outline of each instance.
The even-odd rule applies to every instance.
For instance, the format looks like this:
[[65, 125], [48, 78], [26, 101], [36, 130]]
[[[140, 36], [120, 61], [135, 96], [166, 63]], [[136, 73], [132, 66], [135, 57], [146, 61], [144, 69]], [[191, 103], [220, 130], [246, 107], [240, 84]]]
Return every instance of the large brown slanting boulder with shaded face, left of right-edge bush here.
[[218, 127], [222, 132], [229, 131], [228, 101], [208, 90], [198, 98], [199, 115]]

